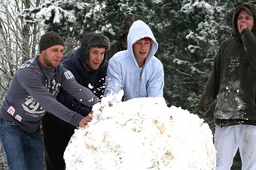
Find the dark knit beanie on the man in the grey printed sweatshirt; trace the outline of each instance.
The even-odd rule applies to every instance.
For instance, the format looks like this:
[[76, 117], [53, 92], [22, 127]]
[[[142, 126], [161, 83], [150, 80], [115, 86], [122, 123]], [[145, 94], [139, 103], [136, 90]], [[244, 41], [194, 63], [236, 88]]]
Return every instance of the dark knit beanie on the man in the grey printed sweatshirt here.
[[39, 51], [41, 52], [50, 48], [50, 46], [56, 45], [64, 46], [64, 41], [62, 40], [62, 37], [59, 36], [59, 34], [54, 31], [49, 31], [41, 36], [39, 41]]

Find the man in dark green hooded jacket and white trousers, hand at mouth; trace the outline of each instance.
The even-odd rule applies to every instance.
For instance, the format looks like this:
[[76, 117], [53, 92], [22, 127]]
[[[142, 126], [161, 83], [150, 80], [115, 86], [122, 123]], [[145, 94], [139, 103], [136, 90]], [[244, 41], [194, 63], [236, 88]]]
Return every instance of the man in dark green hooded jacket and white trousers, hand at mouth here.
[[256, 8], [233, 13], [232, 37], [221, 44], [198, 110], [214, 108], [216, 169], [230, 169], [239, 148], [242, 169], [256, 169]]

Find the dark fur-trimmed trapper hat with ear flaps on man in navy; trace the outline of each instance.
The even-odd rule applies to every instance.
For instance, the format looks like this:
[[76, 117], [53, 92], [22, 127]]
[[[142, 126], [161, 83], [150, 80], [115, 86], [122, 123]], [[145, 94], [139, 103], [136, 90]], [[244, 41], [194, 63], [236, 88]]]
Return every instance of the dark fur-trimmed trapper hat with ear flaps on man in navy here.
[[[84, 37], [81, 40], [81, 47], [79, 50], [79, 59], [80, 61], [84, 62], [84, 64], [87, 64], [88, 61], [88, 55], [90, 52], [90, 48], [98, 47], [98, 48], [105, 48], [106, 51], [108, 51], [110, 46], [110, 42], [108, 37], [106, 37], [103, 34], [95, 33], [95, 32], [89, 32], [84, 34]], [[107, 52], [105, 52], [104, 59], [107, 58]]]

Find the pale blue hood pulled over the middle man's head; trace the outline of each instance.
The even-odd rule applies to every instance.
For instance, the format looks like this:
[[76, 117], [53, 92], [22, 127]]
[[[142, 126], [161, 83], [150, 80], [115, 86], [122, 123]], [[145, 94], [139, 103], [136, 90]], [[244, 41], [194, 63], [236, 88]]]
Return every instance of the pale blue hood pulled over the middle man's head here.
[[[136, 62], [136, 58], [133, 54], [133, 43], [136, 43], [137, 40], [140, 40], [142, 38], [149, 37], [151, 38], [151, 49], [148, 52], [148, 56], [146, 58], [145, 64], [154, 56], [154, 54], [157, 52], [158, 49], [158, 43], [157, 40], [154, 37], [153, 32], [151, 31], [151, 28], [143, 22], [142, 20], [137, 20], [133, 22], [133, 25], [130, 28], [130, 31], [128, 33], [127, 37], [127, 50], [129, 52], [129, 55], [131, 58], [133, 58], [133, 61]], [[137, 62], [136, 62], [137, 64]]]

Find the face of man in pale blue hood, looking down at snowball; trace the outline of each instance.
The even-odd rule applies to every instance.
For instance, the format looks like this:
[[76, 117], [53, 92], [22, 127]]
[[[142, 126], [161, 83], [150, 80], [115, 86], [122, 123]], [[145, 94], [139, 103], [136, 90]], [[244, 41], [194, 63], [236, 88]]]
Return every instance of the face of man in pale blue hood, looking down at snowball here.
[[142, 67], [145, 63], [145, 58], [148, 56], [148, 52], [151, 49], [151, 41], [149, 40], [137, 40], [136, 43], [133, 43], [133, 54], [136, 58], [136, 61], [139, 64], [139, 67]]

